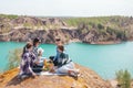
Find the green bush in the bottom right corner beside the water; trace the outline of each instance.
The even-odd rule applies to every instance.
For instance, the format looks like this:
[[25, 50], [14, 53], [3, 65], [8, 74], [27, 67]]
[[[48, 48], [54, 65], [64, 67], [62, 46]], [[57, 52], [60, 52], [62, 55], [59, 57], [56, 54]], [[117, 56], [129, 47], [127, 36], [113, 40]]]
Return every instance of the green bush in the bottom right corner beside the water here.
[[116, 72], [117, 86], [120, 88], [131, 88], [131, 74], [127, 70]]

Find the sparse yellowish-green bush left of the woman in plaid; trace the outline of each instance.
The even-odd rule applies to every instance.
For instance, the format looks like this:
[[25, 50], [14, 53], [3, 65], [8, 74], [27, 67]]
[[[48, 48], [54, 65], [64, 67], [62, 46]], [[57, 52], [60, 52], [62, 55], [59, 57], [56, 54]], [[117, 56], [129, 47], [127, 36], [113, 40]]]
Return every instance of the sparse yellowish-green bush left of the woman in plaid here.
[[19, 66], [20, 59], [21, 59], [22, 50], [16, 48], [11, 52], [9, 52], [9, 58], [8, 58], [8, 67], [7, 69], [12, 69]]

